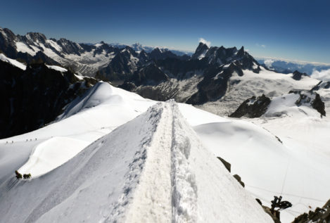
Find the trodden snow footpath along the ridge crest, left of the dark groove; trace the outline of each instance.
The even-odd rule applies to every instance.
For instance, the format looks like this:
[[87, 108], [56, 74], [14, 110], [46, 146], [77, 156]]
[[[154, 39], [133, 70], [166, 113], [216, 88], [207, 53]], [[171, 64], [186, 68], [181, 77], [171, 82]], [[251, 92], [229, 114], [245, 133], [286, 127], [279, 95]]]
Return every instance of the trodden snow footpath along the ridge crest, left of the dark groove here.
[[146, 163], [139, 179], [126, 222], [171, 222], [171, 139], [172, 110], [158, 103], [151, 110], [158, 118], [151, 143], [146, 146]]

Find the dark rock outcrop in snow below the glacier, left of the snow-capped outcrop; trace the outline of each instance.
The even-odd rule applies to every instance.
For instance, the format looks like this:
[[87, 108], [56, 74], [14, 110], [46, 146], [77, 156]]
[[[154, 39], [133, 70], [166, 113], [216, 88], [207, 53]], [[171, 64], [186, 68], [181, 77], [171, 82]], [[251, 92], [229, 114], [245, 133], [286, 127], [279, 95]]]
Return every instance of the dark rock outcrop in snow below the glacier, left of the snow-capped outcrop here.
[[264, 94], [258, 98], [253, 96], [244, 101], [229, 117], [260, 117], [266, 112], [270, 102], [270, 98]]

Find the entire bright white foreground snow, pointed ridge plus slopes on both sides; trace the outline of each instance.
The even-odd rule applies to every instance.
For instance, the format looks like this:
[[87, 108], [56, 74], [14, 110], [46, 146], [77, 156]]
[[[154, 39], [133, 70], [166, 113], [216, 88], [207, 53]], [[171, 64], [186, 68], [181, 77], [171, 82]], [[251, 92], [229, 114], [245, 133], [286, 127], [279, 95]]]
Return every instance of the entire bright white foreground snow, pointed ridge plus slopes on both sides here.
[[330, 198], [329, 118], [294, 101], [237, 120], [99, 82], [50, 125], [0, 140], [0, 222], [272, 222], [254, 198], [279, 195], [291, 222]]

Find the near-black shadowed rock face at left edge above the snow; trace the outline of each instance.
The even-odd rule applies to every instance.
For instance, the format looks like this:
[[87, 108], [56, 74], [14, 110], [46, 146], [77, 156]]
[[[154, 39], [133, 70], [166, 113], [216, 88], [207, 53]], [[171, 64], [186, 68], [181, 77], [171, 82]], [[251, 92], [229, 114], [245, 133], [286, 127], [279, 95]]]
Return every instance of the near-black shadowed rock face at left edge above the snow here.
[[41, 64], [20, 70], [0, 61], [0, 138], [31, 132], [60, 115], [62, 108], [95, 83]]

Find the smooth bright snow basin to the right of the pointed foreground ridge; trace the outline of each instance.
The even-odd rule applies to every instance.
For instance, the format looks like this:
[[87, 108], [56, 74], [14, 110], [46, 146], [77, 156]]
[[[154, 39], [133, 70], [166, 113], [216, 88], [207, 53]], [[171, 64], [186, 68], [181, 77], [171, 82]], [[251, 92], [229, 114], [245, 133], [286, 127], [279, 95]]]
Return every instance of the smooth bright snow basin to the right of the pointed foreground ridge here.
[[[290, 201], [293, 207], [281, 211], [281, 222], [292, 222], [330, 197], [330, 122], [316, 110], [277, 99], [276, 111], [288, 115], [208, 123], [194, 130], [262, 203], [270, 206], [274, 196]], [[274, 105], [269, 109], [274, 112]]]

